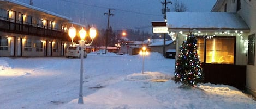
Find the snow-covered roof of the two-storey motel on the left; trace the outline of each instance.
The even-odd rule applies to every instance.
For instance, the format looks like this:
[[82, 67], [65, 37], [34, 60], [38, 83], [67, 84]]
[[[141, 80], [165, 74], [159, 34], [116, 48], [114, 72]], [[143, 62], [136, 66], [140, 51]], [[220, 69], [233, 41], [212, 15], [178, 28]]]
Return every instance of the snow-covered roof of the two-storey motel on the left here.
[[59, 14], [56, 14], [54, 12], [47, 11], [47, 10], [44, 10], [44, 9], [41, 9], [41, 8], [37, 8], [37, 7], [34, 7], [32, 5], [29, 5], [29, 4], [26, 4], [26, 3], [22, 3], [22, 2], [19, 2], [19, 1], [15, 1], [15, 0], [0, 0], [0, 1], [21, 5], [21, 6], [26, 7], [26, 8], [30, 8], [30, 9], [33, 9], [33, 10], [41, 11], [41, 12], [44, 12], [46, 14], [50, 14], [50, 15], [53, 15], [53, 16], [56, 16], [56, 17], [60, 17], [60, 18], [64, 18], [66, 20], [72, 21], [72, 19], [69, 18], [69, 17], [63, 16], [63, 15], [59, 15]]

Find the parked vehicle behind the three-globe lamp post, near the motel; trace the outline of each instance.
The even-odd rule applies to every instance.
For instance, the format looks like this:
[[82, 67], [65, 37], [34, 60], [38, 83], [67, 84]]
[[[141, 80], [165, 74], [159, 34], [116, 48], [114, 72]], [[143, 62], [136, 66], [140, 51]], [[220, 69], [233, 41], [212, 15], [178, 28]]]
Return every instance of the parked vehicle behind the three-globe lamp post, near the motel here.
[[[66, 49], [66, 57], [77, 57], [80, 58], [81, 57], [81, 47], [80, 46], [69, 46]], [[87, 53], [86, 50], [84, 48], [84, 58], [87, 57]]]

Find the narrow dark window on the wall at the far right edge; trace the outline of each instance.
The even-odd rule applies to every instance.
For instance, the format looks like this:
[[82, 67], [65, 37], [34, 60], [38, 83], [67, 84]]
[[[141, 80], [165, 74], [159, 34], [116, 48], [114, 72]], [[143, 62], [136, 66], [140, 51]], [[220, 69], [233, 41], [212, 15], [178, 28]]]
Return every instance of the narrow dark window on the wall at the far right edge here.
[[248, 65], [254, 65], [255, 57], [255, 34], [249, 35], [248, 43]]

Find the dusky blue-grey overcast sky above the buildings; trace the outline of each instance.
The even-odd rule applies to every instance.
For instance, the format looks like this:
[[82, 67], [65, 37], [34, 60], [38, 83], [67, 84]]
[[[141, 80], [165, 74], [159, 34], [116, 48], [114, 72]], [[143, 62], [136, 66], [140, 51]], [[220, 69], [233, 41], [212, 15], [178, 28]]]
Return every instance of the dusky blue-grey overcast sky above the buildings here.
[[[30, 0], [17, 0], [29, 4]], [[56, 12], [84, 25], [94, 25], [98, 29], [107, 27], [108, 9], [110, 26], [114, 30], [141, 29], [151, 30], [152, 21], [163, 21], [161, 12], [164, 0], [32, 0], [35, 7]], [[168, 1], [168, 0], [167, 0]], [[175, 0], [171, 0], [174, 2]], [[180, 0], [187, 11], [210, 12], [216, 0]], [[173, 4], [168, 4], [172, 7]]]

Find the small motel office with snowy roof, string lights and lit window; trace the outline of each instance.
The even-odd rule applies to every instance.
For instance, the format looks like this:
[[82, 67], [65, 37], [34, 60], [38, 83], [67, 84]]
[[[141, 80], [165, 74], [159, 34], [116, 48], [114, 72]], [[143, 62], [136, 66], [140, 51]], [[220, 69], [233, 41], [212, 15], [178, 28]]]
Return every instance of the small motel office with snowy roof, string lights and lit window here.
[[197, 37], [197, 53], [203, 62], [205, 82], [244, 89], [249, 28], [235, 13], [168, 12], [169, 32], [179, 47], [189, 33]]

